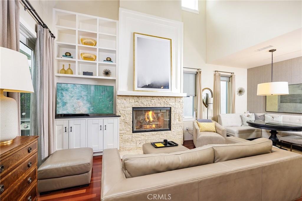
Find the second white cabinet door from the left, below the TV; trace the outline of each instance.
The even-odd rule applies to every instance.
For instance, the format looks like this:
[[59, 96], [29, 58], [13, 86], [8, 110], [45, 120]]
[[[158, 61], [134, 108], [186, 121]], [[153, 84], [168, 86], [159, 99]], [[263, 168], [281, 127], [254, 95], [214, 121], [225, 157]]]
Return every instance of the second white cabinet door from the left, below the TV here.
[[69, 120], [69, 148], [86, 147], [86, 120]]

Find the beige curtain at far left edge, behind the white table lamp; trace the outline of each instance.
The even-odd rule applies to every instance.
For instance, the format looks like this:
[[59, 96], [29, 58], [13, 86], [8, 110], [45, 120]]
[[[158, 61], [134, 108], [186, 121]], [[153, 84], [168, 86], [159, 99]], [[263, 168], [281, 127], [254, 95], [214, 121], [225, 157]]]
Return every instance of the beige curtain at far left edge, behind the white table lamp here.
[[[1, 0], [0, 46], [19, 51], [19, 1]], [[7, 97], [17, 101], [18, 106], [18, 135], [21, 135], [20, 93], [8, 92]]]

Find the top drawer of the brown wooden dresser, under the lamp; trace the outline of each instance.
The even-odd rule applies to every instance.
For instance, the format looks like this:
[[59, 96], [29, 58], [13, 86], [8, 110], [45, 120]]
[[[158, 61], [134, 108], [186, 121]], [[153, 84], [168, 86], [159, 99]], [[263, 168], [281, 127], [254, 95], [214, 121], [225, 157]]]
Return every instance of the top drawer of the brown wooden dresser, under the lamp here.
[[4, 177], [5, 174], [9, 173], [15, 165], [28, 158], [33, 153], [37, 152], [38, 142], [32, 142], [31, 144], [20, 149], [13, 155], [0, 161], [0, 177]]

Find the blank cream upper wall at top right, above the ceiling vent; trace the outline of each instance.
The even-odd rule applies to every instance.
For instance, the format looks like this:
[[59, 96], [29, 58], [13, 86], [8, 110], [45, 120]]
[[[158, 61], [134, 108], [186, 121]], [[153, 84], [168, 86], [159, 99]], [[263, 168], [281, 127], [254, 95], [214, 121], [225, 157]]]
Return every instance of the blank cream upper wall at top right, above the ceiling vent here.
[[301, 28], [301, 1], [207, 1], [207, 63]]

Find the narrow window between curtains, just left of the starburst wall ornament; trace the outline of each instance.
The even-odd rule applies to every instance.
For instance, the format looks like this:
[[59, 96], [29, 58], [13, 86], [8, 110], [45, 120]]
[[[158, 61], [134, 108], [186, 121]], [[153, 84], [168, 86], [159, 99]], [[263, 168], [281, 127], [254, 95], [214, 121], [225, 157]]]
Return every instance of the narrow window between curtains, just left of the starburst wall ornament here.
[[220, 113], [228, 113], [229, 105], [229, 83], [230, 77], [227, 75], [220, 76]]

